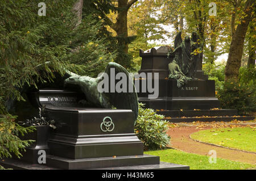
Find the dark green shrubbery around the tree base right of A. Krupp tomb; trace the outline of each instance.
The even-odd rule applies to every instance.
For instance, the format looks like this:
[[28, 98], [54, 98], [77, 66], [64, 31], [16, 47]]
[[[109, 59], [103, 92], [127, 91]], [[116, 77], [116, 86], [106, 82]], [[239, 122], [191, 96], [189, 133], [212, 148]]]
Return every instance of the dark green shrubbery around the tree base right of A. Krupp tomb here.
[[240, 115], [255, 111], [256, 70], [254, 67], [241, 67], [237, 82], [225, 82], [225, 64], [204, 64], [203, 70], [209, 80], [215, 81], [217, 98], [221, 108], [237, 110]]

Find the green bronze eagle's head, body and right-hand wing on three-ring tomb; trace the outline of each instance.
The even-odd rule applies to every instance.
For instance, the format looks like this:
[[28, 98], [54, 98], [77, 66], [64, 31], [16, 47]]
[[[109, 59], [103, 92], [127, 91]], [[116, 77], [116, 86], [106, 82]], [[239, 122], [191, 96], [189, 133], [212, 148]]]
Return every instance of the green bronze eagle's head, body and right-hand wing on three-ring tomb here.
[[[69, 75], [69, 78], [65, 79], [65, 86], [79, 86], [81, 91], [84, 92], [86, 99], [90, 103], [94, 104], [94, 106], [104, 108], [115, 107], [118, 109], [132, 110], [135, 115], [135, 120], [137, 120], [137, 91], [135, 89], [133, 79], [131, 78], [129, 72], [121, 65], [110, 62], [105, 69], [105, 74], [102, 74], [100, 77], [97, 78], [80, 76], [70, 71], [67, 71], [66, 74]], [[118, 82], [117, 80], [115, 80], [115, 77], [118, 74], [122, 74], [122, 78], [124, 79], [122, 80], [123, 85], [121, 92], [115, 89]], [[106, 77], [108, 78], [108, 80], [105, 80]], [[104, 83], [102, 83], [102, 81]], [[102, 91], [101, 86], [98, 86], [100, 83], [108, 87], [108, 89], [105, 90], [104, 87], [104, 91]], [[129, 86], [131, 86], [130, 90]]]

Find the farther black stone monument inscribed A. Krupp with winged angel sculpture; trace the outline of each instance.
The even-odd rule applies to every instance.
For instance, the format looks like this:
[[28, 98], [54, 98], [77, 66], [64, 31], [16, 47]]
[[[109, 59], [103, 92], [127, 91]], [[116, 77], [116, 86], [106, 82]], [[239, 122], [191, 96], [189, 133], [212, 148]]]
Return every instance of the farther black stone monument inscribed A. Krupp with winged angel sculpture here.
[[[222, 110], [216, 98], [215, 82], [208, 80], [201, 69], [201, 44], [196, 32], [181, 38], [177, 33], [174, 47], [154, 47], [139, 50], [142, 57], [141, 73], [159, 74], [159, 96], [148, 98], [150, 92], [138, 92], [139, 102], [146, 104], [171, 122], [251, 120], [237, 116], [237, 110]], [[151, 77], [147, 77], [151, 78]], [[157, 76], [156, 76], [157, 77]], [[144, 79], [139, 80], [143, 85]], [[144, 82], [144, 85], [147, 82]], [[157, 85], [157, 84], [156, 84]], [[154, 86], [153, 86], [154, 87]], [[156, 87], [155, 87], [156, 89]]]

